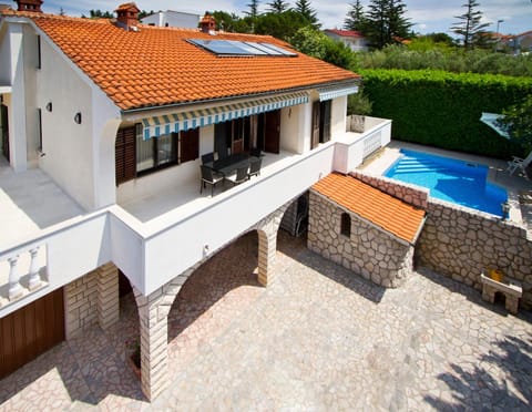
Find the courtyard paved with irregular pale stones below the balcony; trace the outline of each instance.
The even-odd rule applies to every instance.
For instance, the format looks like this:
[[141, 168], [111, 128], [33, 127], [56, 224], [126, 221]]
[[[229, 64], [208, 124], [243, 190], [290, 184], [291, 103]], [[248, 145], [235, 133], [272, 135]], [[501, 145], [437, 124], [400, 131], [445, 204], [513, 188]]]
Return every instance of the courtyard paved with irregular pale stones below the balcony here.
[[168, 321], [172, 384], [152, 404], [125, 362], [130, 295], [112, 330], [1, 380], [0, 410], [531, 410], [530, 312], [426, 271], [383, 289], [283, 231], [263, 288], [256, 254], [247, 235], [185, 284]]

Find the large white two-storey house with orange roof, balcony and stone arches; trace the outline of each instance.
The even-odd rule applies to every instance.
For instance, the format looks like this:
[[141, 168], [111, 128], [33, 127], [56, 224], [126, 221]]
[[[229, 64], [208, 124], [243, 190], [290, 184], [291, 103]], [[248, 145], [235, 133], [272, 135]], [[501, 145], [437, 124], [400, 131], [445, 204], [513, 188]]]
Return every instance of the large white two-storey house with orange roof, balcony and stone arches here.
[[[272, 37], [215, 32], [208, 16], [201, 30], [142, 25], [134, 3], [116, 20], [41, 3], [0, 14], [0, 377], [116, 322], [122, 279], [153, 399], [170, 383], [167, 313], [187, 277], [257, 230], [266, 286], [284, 212], [387, 144], [391, 122], [346, 132], [359, 76]], [[254, 150], [259, 176], [201, 193], [204, 154]]]

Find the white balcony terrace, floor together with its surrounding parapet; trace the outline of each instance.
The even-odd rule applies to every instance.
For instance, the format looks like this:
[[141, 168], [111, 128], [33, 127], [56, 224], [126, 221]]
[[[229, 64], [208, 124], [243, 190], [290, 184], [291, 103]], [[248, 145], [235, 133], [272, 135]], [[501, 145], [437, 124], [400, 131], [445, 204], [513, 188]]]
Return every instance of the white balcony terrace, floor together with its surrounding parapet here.
[[[0, 169], [0, 313], [113, 261], [147, 295], [208, 258], [331, 171], [347, 173], [388, 144], [390, 121], [294, 154], [266, 153], [259, 176], [200, 194], [200, 159], [140, 178], [141, 190], [83, 210], [42, 171]], [[369, 142], [369, 143], [368, 143]], [[377, 147], [377, 148], [378, 148]], [[146, 189], [150, 188], [150, 189]], [[168, 270], [172, 268], [172, 270]], [[33, 285], [33, 286], [32, 286]], [[35, 287], [37, 285], [37, 287]]]

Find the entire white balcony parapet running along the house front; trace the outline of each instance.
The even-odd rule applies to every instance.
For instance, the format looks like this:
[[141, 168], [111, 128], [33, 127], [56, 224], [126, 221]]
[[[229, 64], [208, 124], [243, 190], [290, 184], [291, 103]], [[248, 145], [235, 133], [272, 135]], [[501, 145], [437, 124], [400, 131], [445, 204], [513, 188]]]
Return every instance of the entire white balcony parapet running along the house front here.
[[367, 151], [389, 142], [390, 123], [381, 120], [362, 134], [347, 133], [309, 153], [279, 156], [259, 177], [213, 197], [200, 195], [194, 181], [194, 198], [177, 204], [174, 197], [156, 198], [149, 205], [155, 214], [141, 210], [137, 217], [135, 207], [113, 205], [43, 229], [0, 251], [0, 317], [109, 261], [149, 295], [331, 171], [352, 169]]

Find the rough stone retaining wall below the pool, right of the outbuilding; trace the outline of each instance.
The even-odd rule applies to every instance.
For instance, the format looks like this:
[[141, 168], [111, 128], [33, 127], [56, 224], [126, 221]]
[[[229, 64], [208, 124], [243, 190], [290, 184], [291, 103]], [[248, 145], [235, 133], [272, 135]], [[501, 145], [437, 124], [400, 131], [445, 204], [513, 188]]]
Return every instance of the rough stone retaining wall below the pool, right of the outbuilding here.
[[499, 268], [522, 282], [521, 306], [532, 308], [532, 241], [512, 223], [430, 200], [416, 260], [479, 290], [482, 270]]

